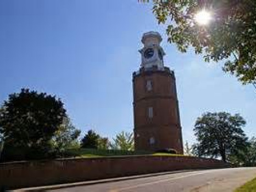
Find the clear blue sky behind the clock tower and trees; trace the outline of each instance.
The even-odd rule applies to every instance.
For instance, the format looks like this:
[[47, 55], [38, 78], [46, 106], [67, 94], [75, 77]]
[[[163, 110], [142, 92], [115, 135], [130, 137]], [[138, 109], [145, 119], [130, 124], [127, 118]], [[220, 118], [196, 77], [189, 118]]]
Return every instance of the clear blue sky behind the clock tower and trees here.
[[[183, 140], [205, 111], [240, 113], [256, 136], [256, 92], [166, 41], [151, 4], [137, 0], [1, 0], [0, 103], [21, 87], [55, 94], [74, 125], [109, 138], [132, 131], [132, 72], [143, 32], [163, 36], [165, 66], [175, 71]], [[83, 133], [84, 134], [84, 133]]]

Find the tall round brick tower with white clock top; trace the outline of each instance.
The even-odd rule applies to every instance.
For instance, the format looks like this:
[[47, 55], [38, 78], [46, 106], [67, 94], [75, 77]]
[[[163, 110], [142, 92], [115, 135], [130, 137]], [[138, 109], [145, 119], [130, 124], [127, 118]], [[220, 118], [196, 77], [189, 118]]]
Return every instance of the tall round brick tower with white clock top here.
[[141, 41], [142, 63], [132, 78], [135, 149], [183, 154], [175, 76], [164, 66], [162, 37], [150, 31]]

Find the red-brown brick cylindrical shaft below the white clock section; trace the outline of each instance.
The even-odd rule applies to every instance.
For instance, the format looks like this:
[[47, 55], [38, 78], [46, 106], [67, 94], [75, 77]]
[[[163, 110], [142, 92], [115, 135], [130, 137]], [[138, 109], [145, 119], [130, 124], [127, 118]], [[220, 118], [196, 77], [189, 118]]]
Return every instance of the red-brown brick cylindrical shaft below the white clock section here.
[[[150, 90], [147, 81], [152, 82]], [[148, 108], [153, 109], [153, 117], [149, 117]], [[172, 148], [183, 154], [175, 76], [168, 67], [142, 68], [133, 74], [133, 114], [136, 150]]]

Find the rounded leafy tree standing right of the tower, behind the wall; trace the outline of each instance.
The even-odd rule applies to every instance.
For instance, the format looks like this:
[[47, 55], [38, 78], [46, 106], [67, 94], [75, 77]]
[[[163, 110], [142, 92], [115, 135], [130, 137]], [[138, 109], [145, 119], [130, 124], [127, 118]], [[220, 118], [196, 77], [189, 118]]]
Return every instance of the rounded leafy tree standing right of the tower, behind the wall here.
[[198, 140], [199, 156], [220, 156], [223, 161], [230, 154], [246, 150], [247, 137], [242, 127], [246, 121], [239, 114], [232, 116], [227, 112], [207, 112], [198, 117], [194, 132]]

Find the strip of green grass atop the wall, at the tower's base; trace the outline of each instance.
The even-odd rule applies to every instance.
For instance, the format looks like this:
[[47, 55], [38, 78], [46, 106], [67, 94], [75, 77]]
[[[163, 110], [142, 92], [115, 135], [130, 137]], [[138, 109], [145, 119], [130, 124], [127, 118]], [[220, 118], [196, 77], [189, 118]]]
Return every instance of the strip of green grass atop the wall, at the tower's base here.
[[73, 157], [108, 157], [108, 156], [132, 156], [132, 155], [153, 155], [153, 156], [183, 156], [180, 154], [152, 153], [149, 151], [123, 151], [123, 150], [103, 150], [103, 149], [69, 149], [68, 156]]

